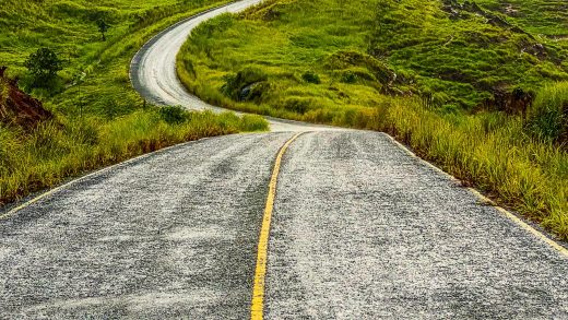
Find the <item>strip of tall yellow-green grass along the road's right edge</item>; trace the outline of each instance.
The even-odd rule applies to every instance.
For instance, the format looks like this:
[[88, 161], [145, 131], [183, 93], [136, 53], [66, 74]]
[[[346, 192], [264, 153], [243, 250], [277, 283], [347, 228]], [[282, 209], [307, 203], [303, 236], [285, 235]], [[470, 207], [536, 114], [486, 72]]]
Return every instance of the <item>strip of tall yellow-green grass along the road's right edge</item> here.
[[568, 239], [568, 155], [524, 132], [521, 117], [440, 115], [421, 103], [379, 108], [374, 128], [391, 133], [465, 183]]

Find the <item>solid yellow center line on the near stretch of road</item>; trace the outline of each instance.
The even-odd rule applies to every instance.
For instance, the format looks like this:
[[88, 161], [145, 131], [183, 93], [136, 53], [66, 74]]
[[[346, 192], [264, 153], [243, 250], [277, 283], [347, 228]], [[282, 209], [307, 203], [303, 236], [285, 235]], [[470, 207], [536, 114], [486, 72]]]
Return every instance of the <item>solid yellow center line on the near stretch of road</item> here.
[[282, 157], [288, 146], [304, 132], [300, 132], [289, 139], [280, 150], [272, 170], [272, 177], [269, 183], [269, 194], [267, 197], [267, 205], [262, 217], [262, 226], [260, 228], [259, 246], [257, 253], [257, 268], [255, 270], [255, 282], [252, 286], [252, 303], [250, 305], [250, 319], [262, 320], [264, 311], [264, 278], [267, 275], [267, 257], [270, 237], [270, 223], [272, 221], [272, 210], [274, 209], [274, 198], [276, 197], [276, 185], [279, 180]]

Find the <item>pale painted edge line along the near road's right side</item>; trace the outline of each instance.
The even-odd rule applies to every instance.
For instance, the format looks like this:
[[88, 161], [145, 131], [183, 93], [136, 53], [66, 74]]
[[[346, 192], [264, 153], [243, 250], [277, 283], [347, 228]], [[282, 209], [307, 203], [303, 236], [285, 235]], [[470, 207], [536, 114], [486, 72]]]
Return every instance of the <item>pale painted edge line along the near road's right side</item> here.
[[[460, 182], [460, 180], [458, 178], [455, 178], [454, 176], [443, 171], [442, 169], [438, 168], [437, 166], [435, 166], [435, 165], [430, 164], [429, 162], [427, 162], [427, 161], [421, 158], [419, 156], [417, 156], [414, 152], [412, 152], [404, 144], [398, 142], [393, 137], [391, 137], [389, 134], [387, 134], [387, 137], [389, 137], [394, 144], [397, 144], [400, 149], [402, 149], [410, 156], [412, 156], [414, 158], [417, 158], [422, 163], [426, 164], [428, 167], [430, 167], [430, 168], [435, 169], [436, 171], [442, 174], [443, 176], [448, 177], [450, 180], [455, 181], [455, 182]], [[532, 234], [533, 236], [535, 236], [537, 239], [540, 239], [541, 241], [545, 242], [546, 245], [551, 246], [553, 249], [558, 251], [560, 253], [560, 256], [568, 257], [568, 249], [567, 248], [560, 246], [558, 242], [556, 242], [555, 240], [551, 239], [545, 234], [543, 234], [540, 230], [535, 229], [530, 224], [525, 223], [520, 217], [518, 217], [516, 214], [507, 211], [505, 208], [501, 208], [501, 206], [497, 205], [497, 203], [495, 203], [495, 201], [493, 201], [493, 200], [488, 199], [487, 197], [483, 195], [480, 191], [477, 191], [477, 190], [475, 190], [473, 188], [468, 188], [468, 190], [471, 193], [473, 193], [477, 199], [480, 199], [481, 202], [487, 203], [487, 204], [492, 205], [499, 213], [501, 213], [507, 218], [512, 221], [516, 225], [518, 225], [519, 227], [521, 227], [524, 230], [529, 232], [530, 234]]]

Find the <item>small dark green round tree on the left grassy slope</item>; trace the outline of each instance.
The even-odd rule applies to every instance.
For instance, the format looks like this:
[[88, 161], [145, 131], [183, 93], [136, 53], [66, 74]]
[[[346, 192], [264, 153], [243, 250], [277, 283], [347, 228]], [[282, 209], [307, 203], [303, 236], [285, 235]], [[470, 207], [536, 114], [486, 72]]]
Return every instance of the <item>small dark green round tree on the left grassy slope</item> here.
[[54, 80], [57, 72], [63, 69], [62, 61], [49, 48], [40, 48], [29, 55], [25, 67], [34, 76], [34, 85], [43, 86]]

